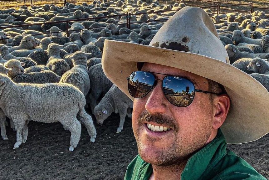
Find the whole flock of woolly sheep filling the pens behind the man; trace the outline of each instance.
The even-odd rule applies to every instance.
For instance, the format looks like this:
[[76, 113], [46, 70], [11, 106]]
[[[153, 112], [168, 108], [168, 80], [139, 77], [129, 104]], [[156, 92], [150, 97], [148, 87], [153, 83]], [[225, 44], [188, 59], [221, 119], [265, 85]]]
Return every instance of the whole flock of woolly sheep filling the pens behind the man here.
[[[98, 124], [120, 114], [117, 133], [131, 117], [132, 101], [105, 76], [101, 58], [105, 39], [148, 45], [163, 23], [185, 5], [162, 5], [153, 0], [93, 1], [88, 5], [0, 10], [0, 127], [7, 121], [17, 131], [14, 149], [27, 140], [27, 124], [60, 122], [71, 132], [70, 151], [76, 148], [81, 123], [90, 141], [96, 130], [86, 113], [89, 106]], [[162, 11], [159, 13], [153, 13]], [[269, 15], [228, 13], [209, 9], [232, 65], [251, 74], [269, 90]], [[126, 28], [126, 14], [130, 29]], [[90, 18], [78, 21], [77, 19]], [[63, 21], [71, 20], [66, 24]], [[74, 20], [74, 21], [72, 21]], [[46, 22], [45, 24], [41, 24]], [[23, 26], [24, 24], [29, 24]], [[15, 25], [22, 25], [18, 27]], [[15, 26], [15, 27], [7, 27]], [[66, 27], [71, 33], [66, 37]]]

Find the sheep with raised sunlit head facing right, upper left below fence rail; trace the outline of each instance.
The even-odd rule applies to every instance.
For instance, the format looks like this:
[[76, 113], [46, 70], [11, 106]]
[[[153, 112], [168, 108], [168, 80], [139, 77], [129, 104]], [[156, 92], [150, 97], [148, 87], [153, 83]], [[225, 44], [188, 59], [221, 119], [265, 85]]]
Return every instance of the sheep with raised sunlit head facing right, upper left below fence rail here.
[[37, 46], [37, 41], [31, 35], [26, 35], [22, 38], [22, 41], [19, 46], [14, 46], [12, 48], [8, 48], [9, 52], [18, 50], [18, 49], [35, 49]]

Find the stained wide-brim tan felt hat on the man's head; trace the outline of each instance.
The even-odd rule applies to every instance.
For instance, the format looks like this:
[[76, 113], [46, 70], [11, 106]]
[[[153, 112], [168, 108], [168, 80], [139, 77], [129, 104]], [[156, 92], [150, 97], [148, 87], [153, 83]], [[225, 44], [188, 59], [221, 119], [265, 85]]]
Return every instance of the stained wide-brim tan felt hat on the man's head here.
[[105, 75], [132, 100], [126, 77], [138, 62], [171, 66], [222, 84], [230, 109], [220, 127], [227, 143], [255, 141], [269, 132], [269, 93], [247, 73], [229, 63], [216, 28], [198, 7], [184, 7], [154, 36], [149, 46], [105, 40]]

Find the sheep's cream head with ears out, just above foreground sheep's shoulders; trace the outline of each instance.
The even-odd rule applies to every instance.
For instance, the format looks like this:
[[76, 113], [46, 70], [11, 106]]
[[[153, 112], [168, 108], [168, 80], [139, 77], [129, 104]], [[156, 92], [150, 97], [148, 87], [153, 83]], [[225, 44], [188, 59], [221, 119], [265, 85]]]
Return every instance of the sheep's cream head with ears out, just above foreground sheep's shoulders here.
[[25, 63], [18, 61], [17, 59], [11, 59], [4, 63], [4, 66], [6, 68], [9, 68], [7, 72], [7, 75], [9, 78], [13, 79], [17, 75], [22, 75], [24, 73], [24, 69], [22, 66], [24, 66]]

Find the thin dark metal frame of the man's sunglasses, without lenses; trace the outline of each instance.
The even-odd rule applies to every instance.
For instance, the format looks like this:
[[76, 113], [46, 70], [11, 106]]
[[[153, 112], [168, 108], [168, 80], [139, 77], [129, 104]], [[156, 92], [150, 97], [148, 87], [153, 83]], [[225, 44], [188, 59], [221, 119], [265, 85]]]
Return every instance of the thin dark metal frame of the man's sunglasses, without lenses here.
[[[129, 83], [130, 76], [131, 76], [133, 73], [135, 73], [135, 72], [146, 72], [146, 73], [150, 73], [150, 74], [152, 74], [152, 75], [154, 76], [154, 82], [153, 82], [153, 85], [151, 86], [151, 88], [149, 89], [149, 92], [150, 92], [151, 90], [153, 90], [154, 86], [156, 85], [157, 80], [160, 80], [160, 81], [162, 82], [162, 91], [163, 91], [163, 94], [164, 94], [163, 80], [164, 80], [164, 78], [166, 78], [166, 77], [168, 77], [168, 76], [173, 76], [173, 77], [183, 78], [183, 79], [186, 79], [186, 80], [188, 80], [189, 82], [191, 82], [192, 85], [193, 85], [193, 87], [194, 87], [194, 92], [201, 92], [201, 93], [204, 93], [204, 94], [215, 94], [215, 95], [221, 95], [221, 94], [223, 94], [223, 92], [221, 92], [221, 93], [214, 93], [214, 92], [210, 92], [210, 91], [205, 91], [205, 90], [195, 89], [194, 83], [193, 83], [191, 80], [189, 80], [188, 78], [186, 78], [186, 77], [174, 76], [174, 75], [167, 75], [167, 74], [162, 74], [162, 73], [155, 73], [155, 72], [151, 72], [151, 71], [141, 71], [141, 70], [132, 72], [132, 73], [129, 75], [129, 77], [126, 78], [126, 79], [128, 80], [128, 85], [130, 84], [130, 83]], [[161, 79], [157, 79], [157, 78], [155, 77], [154, 74], [166, 75], [166, 76], [164, 76], [164, 78], [161, 80]], [[128, 91], [129, 91], [129, 94], [131, 95], [129, 88], [128, 88]], [[141, 96], [141, 97], [134, 97], [133, 95], [131, 95], [131, 96], [132, 96], [133, 98], [140, 99], [140, 98], [142, 98], [142, 97], [148, 95], [149, 92], [145, 93], [145, 95], [143, 95], [143, 96]], [[194, 99], [194, 96], [195, 96], [195, 93], [194, 93], [194, 95], [193, 95], [193, 99]], [[168, 100], [168, 98], [165, 96], [165, 94], [164, 94], [164, 97]], [[168, 100], [168, 101], [169, 101], [169, 100]], [[171, 103], [171, 102], [169, 101], [169, 103]], [[191, 102], [191, 103], [192, 103], [192, 102]], [[190, 104], [191, 104], [191, 103], [190, 103]], [[171, 104], [172, 104], [172, 103], [171, 103]], [[190, 105], [190, 104], [188, 104], [188, 105]], [[174, 105], [174, 104], [172, 104], [172, 105]], [[187, 106], [188, 106], [188, 105], [187, 105]], [[174, 105], [174, 106], [177, 106], [177, 105]], [[177, 106], [177, 107], [187, 107], [187, 106]]]

